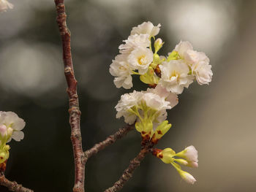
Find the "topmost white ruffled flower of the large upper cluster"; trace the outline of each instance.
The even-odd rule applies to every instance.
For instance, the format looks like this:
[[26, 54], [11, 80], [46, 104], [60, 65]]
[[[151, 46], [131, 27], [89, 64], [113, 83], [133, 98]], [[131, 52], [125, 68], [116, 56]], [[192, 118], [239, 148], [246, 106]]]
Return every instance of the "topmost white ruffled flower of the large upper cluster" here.
[[150, 21], [144, 22], [137, 27], [133, 27], [131, 35], [133, 34], [148, 34], [150, 37], [159, 34], [161, 25], [154, 26]]

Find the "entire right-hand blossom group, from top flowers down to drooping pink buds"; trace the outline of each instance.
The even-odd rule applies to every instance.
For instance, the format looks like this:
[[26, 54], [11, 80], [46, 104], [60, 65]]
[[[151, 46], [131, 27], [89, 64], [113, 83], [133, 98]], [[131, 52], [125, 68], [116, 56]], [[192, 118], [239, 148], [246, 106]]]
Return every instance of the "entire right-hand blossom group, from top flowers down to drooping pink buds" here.
[[[140, 80], [150, 87], [146, 91], [122, 95], [116, 105], [116, 118], [124, 117], [130, 125], [135, 123], [143, 141], [152, 145], [156, 145], [170, 129], [171, 124], [166, 120], [167, 110], [178, 104], [178, 94], [194, 81], [199, 85], [208, 84], [213, 75], [209, 58], [205, 53], [194, 50], [189, 42], [181, 41], [166, 56], [159, 55], [164, 42], [155, 36], [159, 34], [160, 27], [160, 24], [154, 26], [151, 22], [144, 22], [132, 28], [110, 64], [110, 74], [115, 77], [113, 82], [117, 88], [132, 88], [132, 75], [139, 75]], [[171, 148], [155, 148], [153, 154], [165, 164], [173, 165], [185, 181], [195, 183], [195, 178], [179, 165], [198, 166], [194, 146], [180, 153]]]

